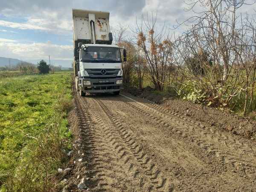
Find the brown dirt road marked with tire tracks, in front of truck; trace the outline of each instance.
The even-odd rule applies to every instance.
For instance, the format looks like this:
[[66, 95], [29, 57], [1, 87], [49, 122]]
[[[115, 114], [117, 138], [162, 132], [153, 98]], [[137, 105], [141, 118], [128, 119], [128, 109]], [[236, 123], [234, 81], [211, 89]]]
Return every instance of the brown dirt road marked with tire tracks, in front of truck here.
[[252, 141], [127, 94], [75, 99], [84, 191], [256, 191]]

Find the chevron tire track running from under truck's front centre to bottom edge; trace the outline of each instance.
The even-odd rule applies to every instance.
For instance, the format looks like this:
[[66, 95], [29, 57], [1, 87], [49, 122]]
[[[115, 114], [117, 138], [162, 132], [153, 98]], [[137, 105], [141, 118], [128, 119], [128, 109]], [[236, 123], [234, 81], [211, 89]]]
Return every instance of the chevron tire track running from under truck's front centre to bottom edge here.
[[[151, 160], [150, 156], [143, 150], [139, 143], [134, 140], [132, 134], [125, 129], [122, 124], [117, 120], [117, 118], [111, 113], [108, 107], [102, 102], [100, 99], [95, 99], [95, 101], [99, 104], [101, 109], [105, 112], [105, 115], [108, 116], [108, 119], [111, 120], [113, 125], [113, 132], [108, 135], [112, 136], [111, 140], [116, 140], [118, 143], [115, 148], [119, 151], [123, 151], [123, 155], [128, 155], [126, 161], [131, 159], [135, 160], [134, 164], [130, 164], [131, 166], [139, 165], [139, 169], [145, 173], [147, 180], [150, 182], [147, 187], [148, 191], [173, 191], [174, 184], [170, 183], [170, 178], [166, 178], [163, 171], [160, 170], [157, 165]], [[119, 137], [119, 140], [117, 139]], [[115, 141], [114, 141], [115, 143]], [[135, 172], [137, 174], [137, 172]], [[173, 178], [171, 178], [173, 180]], [[145, 191], [145, 189], [143, 190]]]

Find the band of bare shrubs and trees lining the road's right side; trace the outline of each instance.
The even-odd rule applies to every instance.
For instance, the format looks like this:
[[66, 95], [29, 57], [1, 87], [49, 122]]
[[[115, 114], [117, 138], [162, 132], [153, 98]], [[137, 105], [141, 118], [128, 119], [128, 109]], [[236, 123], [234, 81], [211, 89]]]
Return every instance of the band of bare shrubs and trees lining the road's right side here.
[[[178, 24], [187, 28], [181, 35], [160, 26], [154, 13], [136, 21], [135, 38], [119, 28], [116, 43], [128, 49], [125, 82], [256, 118], [256, 12], [240, 13], [255, 3], [186, 3], [192, 17]], [[200, 12], [193, 11], [196, 7]]]

